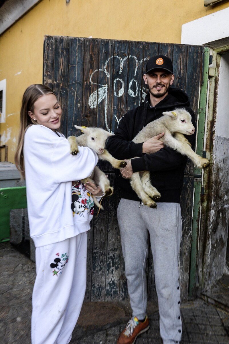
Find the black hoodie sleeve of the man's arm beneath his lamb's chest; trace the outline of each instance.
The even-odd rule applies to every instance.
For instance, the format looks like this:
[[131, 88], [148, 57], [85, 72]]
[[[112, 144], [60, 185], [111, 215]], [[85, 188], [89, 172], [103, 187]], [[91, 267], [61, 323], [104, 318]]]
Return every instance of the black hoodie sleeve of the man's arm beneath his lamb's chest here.
[[[195, 115], [193, 111], [188, 109], [192, 116], [192, 123], [195, 125]], [[193, 135], [185, 137], [192, 144], [192, 148], [195, 147], [196, 132]], [[170, 147], [164, 147], [156, 153], [143, 154], [142, 157], [131, 160], [133, 172], [139, 171], [166, 171], [177, 169], [177, 167], [186, 163], [187, 157], [175, 151]]]

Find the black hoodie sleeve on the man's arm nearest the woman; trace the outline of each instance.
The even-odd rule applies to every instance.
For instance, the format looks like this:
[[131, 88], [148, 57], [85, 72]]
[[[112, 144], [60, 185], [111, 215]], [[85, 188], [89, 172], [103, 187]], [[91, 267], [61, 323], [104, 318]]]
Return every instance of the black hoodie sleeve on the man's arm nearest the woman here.
[[114, 136], [110, 137], [106, 149], [116, 159], [131, 159], [134, 157], [142, 157], [142, 143], [134, 143], [133, 128], [134, 119], [137, 109], [129, 111], [119, 121], [119, 126], [114, 132]]

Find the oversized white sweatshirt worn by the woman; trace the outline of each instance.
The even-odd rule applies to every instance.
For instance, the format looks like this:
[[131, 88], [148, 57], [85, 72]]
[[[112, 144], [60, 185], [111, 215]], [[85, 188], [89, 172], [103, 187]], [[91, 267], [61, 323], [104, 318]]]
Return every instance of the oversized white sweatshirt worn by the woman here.
[[74, 226], [72, 181], [91, 175], [97, 154], [88, 147], [79, 147], [75, 156], [70, 154], [65, 137], [38, 124], [26, 130], [23, 153], [30, 236], [35, 247], [88, 230], [85, 218], [82, 226]]

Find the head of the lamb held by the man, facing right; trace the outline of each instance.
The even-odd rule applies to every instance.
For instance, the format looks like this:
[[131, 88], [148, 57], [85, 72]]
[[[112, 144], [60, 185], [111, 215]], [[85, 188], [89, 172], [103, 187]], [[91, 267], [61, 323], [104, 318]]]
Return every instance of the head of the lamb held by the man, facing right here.
[[192, 135], [195, 128], [192, 123], [192, 117], [185, 109], [175, 109], [174, 111], [163, 112], [169, 116], [168, 127], [171, 132], [180, 132], [184, 135]]

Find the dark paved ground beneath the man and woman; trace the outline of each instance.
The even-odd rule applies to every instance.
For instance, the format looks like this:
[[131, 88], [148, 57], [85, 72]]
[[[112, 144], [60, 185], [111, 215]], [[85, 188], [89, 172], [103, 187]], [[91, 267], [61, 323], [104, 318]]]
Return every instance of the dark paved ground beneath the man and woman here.
[[[30, 344], [31, 295], [35, 263], [10, 243], [0, 244], [0, 343]], [[181, 344], [229, 344], [229, 313], [202, 299], [181, 306]], [[70, 344], [115, 344], [130, 319], [129, 305], [86, 302]], [[162, 344], [157, 305], [148, 305], [150, 329], [136, 344]]]

